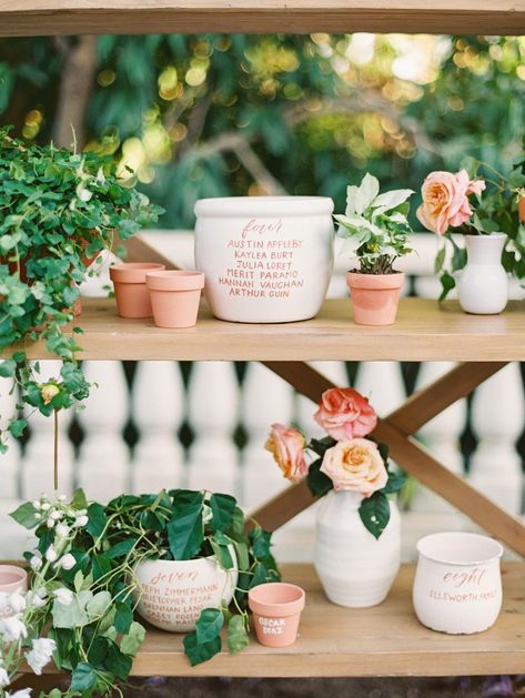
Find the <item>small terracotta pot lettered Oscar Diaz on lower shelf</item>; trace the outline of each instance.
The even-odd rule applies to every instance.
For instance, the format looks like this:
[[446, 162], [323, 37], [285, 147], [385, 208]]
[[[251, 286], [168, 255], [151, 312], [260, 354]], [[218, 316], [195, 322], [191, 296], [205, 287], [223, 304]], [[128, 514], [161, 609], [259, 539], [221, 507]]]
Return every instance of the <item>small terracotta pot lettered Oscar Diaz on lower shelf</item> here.
[[306, 595], [301, 587], [284, 581], [261, 584], [248, 594], [255, 635], [266, 647], [286, 647], [297, 637]]

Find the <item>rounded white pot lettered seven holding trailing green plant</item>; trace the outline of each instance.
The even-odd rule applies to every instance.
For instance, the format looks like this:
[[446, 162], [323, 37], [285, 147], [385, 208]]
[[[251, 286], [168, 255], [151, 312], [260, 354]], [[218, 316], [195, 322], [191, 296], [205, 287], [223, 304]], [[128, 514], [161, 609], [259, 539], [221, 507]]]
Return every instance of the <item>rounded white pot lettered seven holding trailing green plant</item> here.
[[[235, 560], [233, 547], [229, 548]], [[215, 557], [194, 560], [144, 560], [135, 567], [139, 614], [163, 630], [189, 633], [203, 608], [230, 604], [238, 570], [224, 570]]]

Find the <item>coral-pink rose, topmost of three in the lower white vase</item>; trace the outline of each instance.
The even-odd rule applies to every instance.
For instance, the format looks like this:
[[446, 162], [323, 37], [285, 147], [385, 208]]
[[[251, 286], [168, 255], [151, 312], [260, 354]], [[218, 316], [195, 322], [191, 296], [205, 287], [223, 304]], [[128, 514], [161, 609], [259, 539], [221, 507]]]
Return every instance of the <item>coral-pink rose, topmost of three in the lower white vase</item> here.
[[351, 387], [325, 391], [314, 418], [336, 441], [366, 436], [377, 424], [377, 415], [366, 397]]

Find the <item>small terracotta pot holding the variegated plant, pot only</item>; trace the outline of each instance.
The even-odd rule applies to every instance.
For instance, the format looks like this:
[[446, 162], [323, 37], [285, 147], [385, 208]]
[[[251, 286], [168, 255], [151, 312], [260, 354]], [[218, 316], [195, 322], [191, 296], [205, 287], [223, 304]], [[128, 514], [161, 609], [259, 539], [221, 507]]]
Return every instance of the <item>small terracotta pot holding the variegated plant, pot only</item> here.
[[394, 274], [349, 272], [346, 285], [354, 308], [354, 322], [357, 325], [394, 324], [404, 280], [403, 272]]

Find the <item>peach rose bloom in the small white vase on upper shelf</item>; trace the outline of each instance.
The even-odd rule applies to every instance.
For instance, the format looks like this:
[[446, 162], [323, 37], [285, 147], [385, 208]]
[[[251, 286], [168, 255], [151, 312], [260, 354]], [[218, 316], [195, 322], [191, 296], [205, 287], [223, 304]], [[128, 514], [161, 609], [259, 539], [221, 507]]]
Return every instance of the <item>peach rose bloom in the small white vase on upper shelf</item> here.
[[466, 170], [431, 172], [423, 182], [423, 203], [416, 211], [417, 219], [427, 229], [444, 235], [448, 227], [457, 227], [471, 218], [473, 211], [467, 196], [481, 194], [483, 180], [470, 180]]

